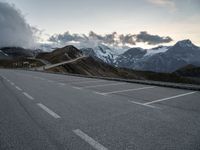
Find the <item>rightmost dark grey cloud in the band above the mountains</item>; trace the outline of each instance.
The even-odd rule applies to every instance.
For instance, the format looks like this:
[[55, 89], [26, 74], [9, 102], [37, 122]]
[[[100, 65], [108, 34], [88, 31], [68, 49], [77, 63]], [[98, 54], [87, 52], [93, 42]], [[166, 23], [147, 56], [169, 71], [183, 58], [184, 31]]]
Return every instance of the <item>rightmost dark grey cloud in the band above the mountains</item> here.
[[161, 37], [159, 35], [151, 35], [148, 34], [146, 31], [140, 32], [139, 34], [135, 35], [136, 42], [144, 42], [148, 45], [157, 45], [162, 43], [169, 43], [172, 40], [169, 36], [167, 37]]

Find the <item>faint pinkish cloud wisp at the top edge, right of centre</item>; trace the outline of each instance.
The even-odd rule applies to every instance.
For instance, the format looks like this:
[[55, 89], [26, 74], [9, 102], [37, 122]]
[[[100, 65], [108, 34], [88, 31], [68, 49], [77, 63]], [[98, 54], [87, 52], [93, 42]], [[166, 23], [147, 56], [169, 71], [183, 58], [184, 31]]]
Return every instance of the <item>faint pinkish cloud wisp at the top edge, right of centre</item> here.
[[174, 0], [147, 0], [147, 1], [161, 7], [170, 8], [171, 11], [176, 10], [176, 5], [174, 3]]

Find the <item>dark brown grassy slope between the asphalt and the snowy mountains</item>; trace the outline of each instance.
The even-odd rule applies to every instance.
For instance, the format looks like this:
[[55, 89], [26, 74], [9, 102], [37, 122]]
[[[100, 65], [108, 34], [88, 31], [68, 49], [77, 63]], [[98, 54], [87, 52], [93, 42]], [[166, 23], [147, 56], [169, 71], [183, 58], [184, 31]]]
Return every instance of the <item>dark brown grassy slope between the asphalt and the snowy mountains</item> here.
[[149, 71], [136, 71], [124, 68], [115, 68], [106, 63], [96, 61], [93, 58], [85, 58], [70, 64], [51, 68], [50, 72], [66, 72], [73, 74], [82, 74], [88, 76], [104, 76], [124, 79], [138, 79], [138, 80], [154, 80], [163, 82], [199, 84], [199, 82], [178, 76], [176, 74], [155, 73]]

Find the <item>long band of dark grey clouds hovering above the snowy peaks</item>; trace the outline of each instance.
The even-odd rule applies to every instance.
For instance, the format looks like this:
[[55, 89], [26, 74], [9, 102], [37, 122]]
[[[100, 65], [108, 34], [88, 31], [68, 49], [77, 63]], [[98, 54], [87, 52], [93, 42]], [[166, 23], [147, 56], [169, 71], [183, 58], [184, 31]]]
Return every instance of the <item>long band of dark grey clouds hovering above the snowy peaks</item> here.
[[136, 42], [144, 42], [149, 45], [156, 45], [161, 43], [171, 42], [170, 37], [160, 37], [158, 35], [150, 35], [147, 32], [140, 32], [139, 34], [97, 34], [90, 31], [88, 35], [84, 34], [70, 34], [65, 32], [63, 34], [55, 34], [49, 38], [50, 42], [57, 44], [74, 44], [80, 47], [93, 47], [99, 44], [106, 44], [108, 46], [126, 46], [135, 45]]

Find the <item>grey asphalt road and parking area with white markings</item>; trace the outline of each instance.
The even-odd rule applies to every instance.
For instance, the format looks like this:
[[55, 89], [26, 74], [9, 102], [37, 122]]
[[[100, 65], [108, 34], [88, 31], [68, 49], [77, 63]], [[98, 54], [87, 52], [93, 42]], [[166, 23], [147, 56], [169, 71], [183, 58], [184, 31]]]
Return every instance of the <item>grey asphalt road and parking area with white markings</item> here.
[[199, 150], [200, 93], [0, 69], [1, 150]]

